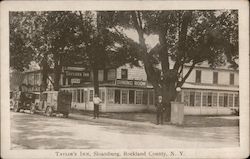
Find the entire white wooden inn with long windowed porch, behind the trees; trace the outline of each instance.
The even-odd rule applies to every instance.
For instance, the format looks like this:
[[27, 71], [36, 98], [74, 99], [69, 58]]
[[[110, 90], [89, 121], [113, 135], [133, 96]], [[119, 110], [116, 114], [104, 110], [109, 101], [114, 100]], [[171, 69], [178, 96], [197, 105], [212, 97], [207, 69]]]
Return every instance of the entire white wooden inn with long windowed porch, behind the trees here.
[[[184, 74], [189, 66], [184, 66]], [[25, 73], [30, 91], [40, 91], [41, 71]], [[48, 90], [53, 90], [48, 80]], [[93, 110], [93, 74], [80, 67], [63, 67], [60, 89], [72, 93], [72, 109]], [[98, 71], [102, 112], [154, 111], [154, 90], [143, 67], [124, 65]], [[239, 72], [228, 67], [211, 69], [198, 65], [182, 86], [176, 99], [184, 103], [185, 114], [231, 114], [239, 108]]]

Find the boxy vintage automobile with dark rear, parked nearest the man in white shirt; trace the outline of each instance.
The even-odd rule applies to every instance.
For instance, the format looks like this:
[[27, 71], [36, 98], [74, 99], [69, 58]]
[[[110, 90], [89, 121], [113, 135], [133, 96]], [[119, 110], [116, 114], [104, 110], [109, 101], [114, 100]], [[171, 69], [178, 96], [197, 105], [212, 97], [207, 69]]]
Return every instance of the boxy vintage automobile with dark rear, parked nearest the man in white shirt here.
[[34, 111], [41, 111], [46, 116], [63, 114], [64, 117], [68, 117], [71, 100], [71, 93], [63, 91], [45, 91], [40, 96], [39, 104], [35, 104]]

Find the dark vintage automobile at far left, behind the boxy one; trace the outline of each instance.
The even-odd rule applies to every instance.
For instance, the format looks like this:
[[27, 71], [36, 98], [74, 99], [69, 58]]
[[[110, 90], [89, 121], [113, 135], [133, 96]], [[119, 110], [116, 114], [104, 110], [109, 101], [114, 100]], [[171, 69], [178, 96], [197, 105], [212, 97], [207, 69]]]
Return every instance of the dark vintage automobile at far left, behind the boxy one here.
[[35, 107], [36, 93], [16, 91], [12, 93], [11, 103], [13, 110], [19, 112], [22, 110], [30, 110], [33, 113]]

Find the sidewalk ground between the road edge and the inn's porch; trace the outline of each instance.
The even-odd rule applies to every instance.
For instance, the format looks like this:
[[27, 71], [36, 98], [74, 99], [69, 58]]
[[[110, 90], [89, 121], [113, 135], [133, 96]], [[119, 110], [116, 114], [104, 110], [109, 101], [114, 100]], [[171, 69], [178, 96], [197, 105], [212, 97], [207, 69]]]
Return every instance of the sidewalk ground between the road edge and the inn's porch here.
[[[90, 111], [72, 110], [70, 118], [88, 120], [98, 123], [129, 126], [150, 126], [156, 125], [156, 114], [152, 112], [137, 113], [100, 113], [99, 119], [93, 119]], [[164, 123], [165, 126], [173, 126], [171, 123]], [[181, 127], [235, 127], [239, 126], [239, 116], [184, 116]]]

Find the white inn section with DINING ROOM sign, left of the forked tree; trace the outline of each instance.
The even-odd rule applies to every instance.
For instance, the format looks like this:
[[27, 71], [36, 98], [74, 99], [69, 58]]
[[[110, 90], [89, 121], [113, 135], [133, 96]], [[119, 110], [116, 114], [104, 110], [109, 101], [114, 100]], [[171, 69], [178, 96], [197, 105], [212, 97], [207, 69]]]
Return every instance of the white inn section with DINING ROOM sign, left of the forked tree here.
[[[91, 76], [90, 73], [90, 79]], [[61, 89], [72, 93], [72, 108], [93, 110], [93, 83], [91, 81], [83, 84], [72, 83], [72, 81], [80, 81], [76, 80], [77, 77], [63, 78], [65, 81], [61, 81]], [[142, 68], [130, 68], [126, 65], [106, 72], [99, 70], [98, 79], [99, 96], [103, 101], [100, 107], [102, 112], [143, 111], [150, 105], [154, 105], [154, 91], [147, 83], [146, 74]]]

